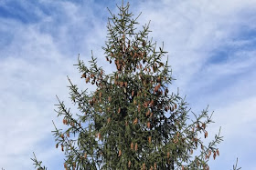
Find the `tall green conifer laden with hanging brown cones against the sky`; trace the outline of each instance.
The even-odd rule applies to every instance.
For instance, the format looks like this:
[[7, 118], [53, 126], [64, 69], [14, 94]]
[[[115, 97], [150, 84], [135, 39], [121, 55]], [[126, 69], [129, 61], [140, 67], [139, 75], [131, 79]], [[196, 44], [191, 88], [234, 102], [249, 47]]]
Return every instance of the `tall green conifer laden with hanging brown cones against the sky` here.
[[[189, 119], [185, 99], [168, 90], [174, 78], [167, 58], [163, 62], [164, 44], [158, 50], [149, 39], [149, 24], [136, 31], [138, 17], [133, 18], [129, 4], [118, 8], [118, 15], [110, 11], [102, 47], [115, 71], [106, 74], [93, 55], [91, 67], [79, 57], [81, 78], [96, 90], [80, 91], [68, 77], [79, 115], [58, 98], [58, 116], [67, 129], [55, 126], [53, 133], [56, 147], [66, 155], [65, 169], [209, 169], [208, 160], [219, 155], [222, 137], [203, 143], [213, 123], [208, 109]], [[33, 161], [46, 169], [36, 157]]]

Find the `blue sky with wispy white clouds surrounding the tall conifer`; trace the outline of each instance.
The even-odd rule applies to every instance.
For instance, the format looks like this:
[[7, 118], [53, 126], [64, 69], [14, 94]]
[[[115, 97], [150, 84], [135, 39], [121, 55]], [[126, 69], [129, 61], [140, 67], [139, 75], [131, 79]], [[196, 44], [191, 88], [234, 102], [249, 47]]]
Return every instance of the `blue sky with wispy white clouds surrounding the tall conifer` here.
[[[84, 86], [74, 64], [91, 50], [105, 65], [101, 46], [109, 15], [121, 0], [0, 1], [0, 168], [33, 169], [36, 152], [48, 169], [63, 168], [64, 155], [51, 134], [55, 95], [69, 104], [67, 75]], [[165, 42], [169, 65], [192, 111], [209, 105], [221, 126], [224, 141], [211, 169], [231, 169], [236, 158], [242, 169], [253, 170], [256, 152], [256, 1], [141, 0], [131, 2], [141, 25], [151, 20], [150, 35]], [[70, 105], [72, 106], [72, 105]]]

